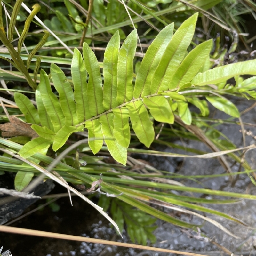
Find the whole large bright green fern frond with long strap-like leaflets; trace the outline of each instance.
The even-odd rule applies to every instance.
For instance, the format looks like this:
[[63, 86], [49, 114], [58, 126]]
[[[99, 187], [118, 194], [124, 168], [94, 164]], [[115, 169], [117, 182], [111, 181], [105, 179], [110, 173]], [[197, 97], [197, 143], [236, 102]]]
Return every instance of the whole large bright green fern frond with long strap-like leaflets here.
[[[99, 63], [86, 43], [83, 45], [83, 57], [75, 49], [72, 59], [74, 92], [63, 71], [52, 64], [52, 81], [59, 94], [58, 99], [52, 92], [49, 77], [41, 70], [41, 82], [36, 93], [38, 111], [26, 96], [15, 94], [27, 121], [44, 125], [32, 126], [40, 137], [24, 145], [20, 155], [32, 156], [47, 143], [53, 144], [52, 148], [56, 151], [72, 133], [83, 131], [85, 124], [92, 152], [99, 152], [104, 139], [111, 156], [125, 165], [126, 148], [130, 143], [129, 118], [137, 138], [149, 148], [155, 131], [148, 109], [156, 121], [169, 124], [174, 123], [174, 114], [178, 114], [185, 124], [192, 123], [188, 103], [199, 108], [202, 116], [207, 116], [207, 102], [191, 94], [194, 86], [225, 82], [237, 74], [256, 74], [256, 62], [238, 62], [198, 73], [209, 58], [212, 40], [199, 44], [184, 58], [194, 35], [196, 20], [197, 13], [188, 18], [174, 35], [173, 24], [170, 24], [156, 36], [141, 62], [135, 82], [133, 58], [137, 46], [136, 30], [124, 40], [120, 50], [118, 31], [108, 43], [103, 60], [103, 90]], [[241, 82], [236, 91], [255, 97], [254, 88]], [[209, 94], [207, 90], [205, 92], [208, 92], [206, 99], [214, 107], [239, 117], [236, 106], [228, 99]]]

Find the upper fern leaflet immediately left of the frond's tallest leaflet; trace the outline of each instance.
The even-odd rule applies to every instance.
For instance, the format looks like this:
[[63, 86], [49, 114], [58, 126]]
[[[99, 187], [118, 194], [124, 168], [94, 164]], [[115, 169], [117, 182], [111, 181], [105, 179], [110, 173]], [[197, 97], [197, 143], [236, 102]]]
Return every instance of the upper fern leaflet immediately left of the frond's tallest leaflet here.
[[141, 62], [139, 71], [136, 76], [133, 91], [134, 98], [140, 98], [150, 94], [152, 77], [167, 45], [172, 39], [173, 27], [173, 23], [166, 26], [163, 30], [160, 31], [155, 40], [148, 47], [148, 50]]

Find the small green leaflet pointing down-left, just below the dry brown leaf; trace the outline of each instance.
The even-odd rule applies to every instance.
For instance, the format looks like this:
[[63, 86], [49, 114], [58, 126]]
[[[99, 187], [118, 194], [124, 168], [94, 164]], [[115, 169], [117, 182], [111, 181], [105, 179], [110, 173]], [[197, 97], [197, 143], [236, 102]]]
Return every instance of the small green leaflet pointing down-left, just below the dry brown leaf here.
[[26, 143], [18, 152], [18, 154], [23, 158], [28, 158], [33, 156], [38, 151], [49, 146], [52, 143], [52, 140], [44, 139], [42, 137], [37, 137], [28, 143]]

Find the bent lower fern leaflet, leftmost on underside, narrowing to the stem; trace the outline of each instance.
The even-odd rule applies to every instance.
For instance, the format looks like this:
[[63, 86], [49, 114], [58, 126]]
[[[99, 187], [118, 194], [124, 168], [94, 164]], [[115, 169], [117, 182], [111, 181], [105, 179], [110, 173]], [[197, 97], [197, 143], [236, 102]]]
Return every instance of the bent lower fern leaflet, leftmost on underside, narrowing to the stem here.
[[74, 133], [74, 132], [83, 132], [83, 131], [84, 131], [84, 126], [83, 125], [81, 125], [79, 127], [64, 125], [56, 133], [56, 136], [54, 137], [52, 149], [54, 151], [57, 151], [60, 147], [62, 147], [65, 144], [65, 142], [68, 140], [68, 137], [72, 133]]

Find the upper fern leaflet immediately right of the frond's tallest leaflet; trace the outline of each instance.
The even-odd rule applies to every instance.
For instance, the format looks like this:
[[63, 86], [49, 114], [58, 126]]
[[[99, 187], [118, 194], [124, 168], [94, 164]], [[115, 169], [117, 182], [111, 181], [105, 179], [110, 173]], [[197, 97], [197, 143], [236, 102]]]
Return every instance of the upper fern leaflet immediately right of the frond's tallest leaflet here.
[[169, 83], [169, 89], [174, 89], [190, 82], [199, 69], [204, 65], [205, 60], [210, 54], [211, 48], [212, 39], [197, 45], [195, 49], [189, 52], [172, 76], [172, 80]]

